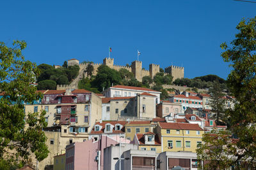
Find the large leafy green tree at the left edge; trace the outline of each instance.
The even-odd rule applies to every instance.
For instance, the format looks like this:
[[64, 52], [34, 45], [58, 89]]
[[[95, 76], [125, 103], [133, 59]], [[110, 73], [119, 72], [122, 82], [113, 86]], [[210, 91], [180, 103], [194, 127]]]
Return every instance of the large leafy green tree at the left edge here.
[[[22, 166], [31, 153], [41, 161], [49, 153], [42, 128], [47, 126], [45, 111], [24, 113], [24, 103], [40, 100], [42, 94], [30, 85], [40, 69], [24, 59], [26, 42], [14, 41], [8, 47], [0, 42], [0, 166], [1, 169]], [[26, 128], [25, 128], [26, 127]], [[13, 165], [13, 166], [12, 166]]]

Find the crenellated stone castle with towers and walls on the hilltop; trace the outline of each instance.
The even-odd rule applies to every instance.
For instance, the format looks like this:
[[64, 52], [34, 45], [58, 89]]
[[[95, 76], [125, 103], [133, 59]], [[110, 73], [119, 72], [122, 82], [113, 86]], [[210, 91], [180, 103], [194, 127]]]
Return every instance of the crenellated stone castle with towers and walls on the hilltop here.
[[[86, 70], [86, 67], [88, 66], [88, 63], [86, 64], [79, 64], [79, 60], [77, 59], [70, 59], [68, 60], [68, 66], [74, 66], [78, 65], [80, 67], [79, 74], [70, 85], [57, 85], [57, 89], [76, 89], [78, 81], [83, 78], [83, 76], [87, 76], [87, 73], [84, 73]], [[101, 63], [93, 63], [93, 75], [97, 74], [98, 67], [101, 66]], [[115, 69], [116, 71], [119, 71], [120, 69], [127, 69], [128, 71], [132, 72], [134, 74], [134, 77], [138, 81], [142, 81], [143, 76], [150, 76], [150, 78], [154, 78], [157, 73], [160, 72], [159, 64], [149, 64], [149, 71], [146, 69], [142, 69], [142, 62], [138, 60], [134, 60], [131, 64], [131, 67], [128, 66], [118, 66], [114, 64], [114, 59], [112, 58], [105, 58], [103, 59], [103, 65], [110, 67], [111, 69]], [[171, 74], [173, 76], [173, 80], [176, 80], [177, 78], [184, 78], [184, 67], [179, 66], [169, 66], [164, 68], [164, 75]]]

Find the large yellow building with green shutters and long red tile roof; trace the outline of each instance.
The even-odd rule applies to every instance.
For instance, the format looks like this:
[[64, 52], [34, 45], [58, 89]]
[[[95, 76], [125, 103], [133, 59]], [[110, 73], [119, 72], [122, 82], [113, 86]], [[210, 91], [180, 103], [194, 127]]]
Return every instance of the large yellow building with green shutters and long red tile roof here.
[[202, 143], [204, 130], [198, 124], [159, 122], [156, 134], [161, 143], [161, 152], [196, 152]]

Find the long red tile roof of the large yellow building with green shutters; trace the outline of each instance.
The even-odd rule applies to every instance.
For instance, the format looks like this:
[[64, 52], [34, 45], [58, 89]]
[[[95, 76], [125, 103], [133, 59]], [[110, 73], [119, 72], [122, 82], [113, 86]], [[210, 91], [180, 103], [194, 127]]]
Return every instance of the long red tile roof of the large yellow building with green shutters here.
[[198, 124], [159, 122], [159, 125], [162, 127], [162, 129], [203, 131], [203, 129], [199, 127]]

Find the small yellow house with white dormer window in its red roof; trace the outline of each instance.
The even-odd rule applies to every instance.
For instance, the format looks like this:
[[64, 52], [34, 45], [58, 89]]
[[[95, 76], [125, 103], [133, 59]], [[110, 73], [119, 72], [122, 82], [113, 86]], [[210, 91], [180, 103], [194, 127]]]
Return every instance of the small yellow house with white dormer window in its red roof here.
[[161, 143], [158, 136], [153, 132], [135, 134], [133, 143], [139, 146], [139, 150], [152, 150], [161, 153]]

